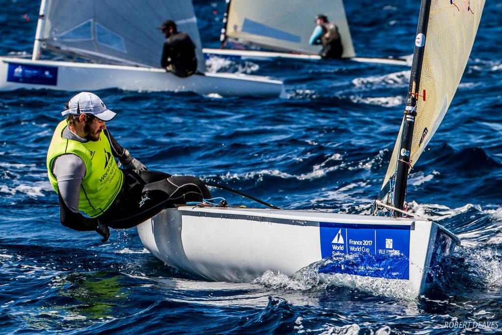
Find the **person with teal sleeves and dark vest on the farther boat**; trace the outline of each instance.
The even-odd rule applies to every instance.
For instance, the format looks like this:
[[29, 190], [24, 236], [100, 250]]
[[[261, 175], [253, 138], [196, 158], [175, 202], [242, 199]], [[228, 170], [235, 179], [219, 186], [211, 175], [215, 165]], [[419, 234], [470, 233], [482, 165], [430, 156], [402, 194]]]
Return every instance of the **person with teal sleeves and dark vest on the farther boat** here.
[[321, 45], [322, 50], [319, 53], [322, 58], [341, 58], [343, 46], [338, 33], [338, 27], [330, 23], [328, 18], [319, 14], [315, 17], [316, 27], [310, 36], [309, 44]]

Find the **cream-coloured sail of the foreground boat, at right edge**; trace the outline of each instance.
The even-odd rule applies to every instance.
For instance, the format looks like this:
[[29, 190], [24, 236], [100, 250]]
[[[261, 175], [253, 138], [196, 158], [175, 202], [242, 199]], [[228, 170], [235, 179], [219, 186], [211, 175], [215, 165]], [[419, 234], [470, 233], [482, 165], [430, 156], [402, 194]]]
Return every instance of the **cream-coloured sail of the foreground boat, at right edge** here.
[[[410, 166], [417, 162], [450, 106], [469, 59], [483, 7], [484, 0], [431, 0], [430, 2], [427, 36], [418, 34], [416, 39], [417, 46], [425, 42], [420, 84], [416, 90], [424, 96], [417, 96]], [[404, 150], [400, 142], [406, 118], [407, 116], [401, 124], [379, 195], [380, 199], [388, 203], [390, 202], [388, 195], [392, 191], [391, 184], [396, 175], [398, 155]]]

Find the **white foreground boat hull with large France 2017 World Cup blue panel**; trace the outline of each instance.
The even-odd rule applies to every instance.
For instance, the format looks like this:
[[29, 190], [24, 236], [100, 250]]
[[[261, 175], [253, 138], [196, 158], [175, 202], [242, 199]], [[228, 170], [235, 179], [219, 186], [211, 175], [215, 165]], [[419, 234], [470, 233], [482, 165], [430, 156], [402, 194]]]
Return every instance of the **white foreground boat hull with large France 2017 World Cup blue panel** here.
[[268, 270], [289, 276], [327, 259], [318, 268], [326, 279], [381, 278], [408, 284], [414, 295], [427, 290], [431, 263], [458, 243], [431, 221], [192, 206], [165, 209], [138, 233], [157, 258], [207, 280], [247, 282]]

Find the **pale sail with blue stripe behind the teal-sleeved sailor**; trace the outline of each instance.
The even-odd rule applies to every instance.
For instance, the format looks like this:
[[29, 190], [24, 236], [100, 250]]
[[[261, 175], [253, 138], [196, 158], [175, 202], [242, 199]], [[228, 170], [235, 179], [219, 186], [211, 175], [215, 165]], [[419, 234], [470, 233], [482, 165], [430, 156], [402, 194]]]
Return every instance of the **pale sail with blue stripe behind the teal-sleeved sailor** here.
[[338, 27], [344, 58], [354, 57], [352, 38], [342, 0], [231, 0], [226, 36], [244, 44], [317, 55], [310, 45], [315, 16], [324, 14]]

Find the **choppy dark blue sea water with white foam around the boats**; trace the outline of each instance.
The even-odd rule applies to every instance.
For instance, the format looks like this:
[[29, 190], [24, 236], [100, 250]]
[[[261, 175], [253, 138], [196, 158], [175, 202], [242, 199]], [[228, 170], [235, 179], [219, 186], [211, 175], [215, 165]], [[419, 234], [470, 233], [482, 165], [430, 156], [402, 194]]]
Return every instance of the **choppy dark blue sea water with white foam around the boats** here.
[[[204, 46], [217, 47], [224, 3], [194, 5]], [[38, 6], [2, 1], [0, 54], [31, 53]], [[418, 1], [351, 1], [345, 10], [359, 56], [413, 52]], [[435, 269], [428, 297], [322, 284], [308, 271], [207, 282], [157, 260], [135, 229], [112, 231], [106, 243], [66, 229], [45, 156], [75, 92], [0, 92], [0, 333], [502, 333], [501, 17], [502, 1], [487, 1], [448, 114], [410, 175], [411, 210], [462, 242]], [[196, 175], [281, 208], [369, 212], [409, 69], [336, 60], [208, 66], [281, 78], [287, 98], [97, 91], [118, 113], [111, 133], [150, 169]]]

